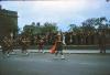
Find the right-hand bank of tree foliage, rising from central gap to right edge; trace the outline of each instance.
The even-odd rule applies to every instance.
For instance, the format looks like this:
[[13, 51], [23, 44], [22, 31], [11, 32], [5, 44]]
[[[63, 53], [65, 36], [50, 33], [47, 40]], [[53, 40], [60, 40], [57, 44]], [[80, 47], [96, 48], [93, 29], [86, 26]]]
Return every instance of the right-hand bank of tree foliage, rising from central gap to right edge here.
[[95, 32], [95, 31], [101, 31], [101, 30], [110, 29], [110, 21], [107, 20], [106, 17], [87, 19], [81, 24], [82, 25], [80, 25], [80, 26], [77, 26], [76, 24], [70, 24], [69, 31]]

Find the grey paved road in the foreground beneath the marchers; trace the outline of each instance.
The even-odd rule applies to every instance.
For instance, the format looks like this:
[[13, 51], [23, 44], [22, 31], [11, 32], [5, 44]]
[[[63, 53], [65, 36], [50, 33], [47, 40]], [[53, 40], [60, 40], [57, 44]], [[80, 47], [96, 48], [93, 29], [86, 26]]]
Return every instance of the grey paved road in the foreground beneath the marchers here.
[[110, 54], [65, 54], [65, 57], [16, 53], [2, 58], [0, 52], [0, 75], [110, 75]]

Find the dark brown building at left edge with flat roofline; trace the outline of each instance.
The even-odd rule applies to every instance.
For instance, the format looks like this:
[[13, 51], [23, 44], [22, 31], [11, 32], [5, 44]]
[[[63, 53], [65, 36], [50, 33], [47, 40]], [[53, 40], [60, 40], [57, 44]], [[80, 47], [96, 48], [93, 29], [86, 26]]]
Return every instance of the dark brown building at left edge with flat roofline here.
[[0, 7], [0, 38], [18, 34], [18, 12]]

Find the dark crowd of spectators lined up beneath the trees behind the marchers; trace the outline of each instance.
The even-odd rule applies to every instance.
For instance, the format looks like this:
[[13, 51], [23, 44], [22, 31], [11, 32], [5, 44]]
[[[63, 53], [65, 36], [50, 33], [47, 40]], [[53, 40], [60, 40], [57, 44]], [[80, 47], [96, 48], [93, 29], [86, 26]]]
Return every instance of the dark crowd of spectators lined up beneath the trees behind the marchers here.
[[[37, 45], [42, 39], [45, 45], [52, 45], [55, 42], [57, 33], [35, 34], [30, 35], [31, 44]], [[62, 33], [62, 40], [66, 45], [95, 45], [98, 43], [98, 33], [82, 33], [82, 32], [65, 32]]]

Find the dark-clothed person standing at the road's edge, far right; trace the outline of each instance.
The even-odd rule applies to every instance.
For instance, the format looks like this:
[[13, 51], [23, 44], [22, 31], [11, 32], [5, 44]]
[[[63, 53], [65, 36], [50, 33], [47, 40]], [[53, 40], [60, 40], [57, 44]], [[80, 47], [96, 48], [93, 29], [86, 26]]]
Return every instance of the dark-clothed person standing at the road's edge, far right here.
[[99, 32], [98, 44], [100, 53], [106, 53], [106, 34], [105, 31]]

